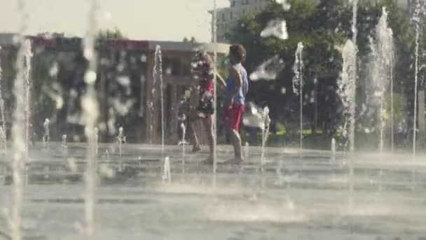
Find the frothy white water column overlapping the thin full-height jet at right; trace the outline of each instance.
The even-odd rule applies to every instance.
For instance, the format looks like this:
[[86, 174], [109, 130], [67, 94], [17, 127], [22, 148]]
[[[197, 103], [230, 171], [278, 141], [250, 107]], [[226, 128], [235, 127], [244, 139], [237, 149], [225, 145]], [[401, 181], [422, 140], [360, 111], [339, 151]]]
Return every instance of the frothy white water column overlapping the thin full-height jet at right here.
[[[343, 58], [343, 67], [341, 76], [338, 79], [338, 95], [341, 98], [343, 104], [343, 116], [344, 116], [344, 124], [343, 124], [343, 138], [346, 140], [345, 146], [348, 146], [348, 142], [352, 145], [352, 141], [355, 139], [353, 134], [349, 129], [353, 122], [355, 116], [352, 115], [352, 109], [354, 108], [354, 94], [355, 90], [355, 56], [356, 56], [355, 45], [352, 41], [348, 40], [343, 46], [342, 50], [342, 58]], [[349, 129], [348, 129], [349, 126]]]

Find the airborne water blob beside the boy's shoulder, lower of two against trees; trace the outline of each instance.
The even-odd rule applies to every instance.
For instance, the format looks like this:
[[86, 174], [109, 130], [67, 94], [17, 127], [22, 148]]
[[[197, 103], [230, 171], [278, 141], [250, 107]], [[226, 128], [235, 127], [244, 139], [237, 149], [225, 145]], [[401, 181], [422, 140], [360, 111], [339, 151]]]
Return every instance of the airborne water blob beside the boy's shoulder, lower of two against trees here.
[[257, 69], [250, 74], [250, 80], [275, 80], [277, 73], [281, 72], [283, 68], [284, 61], [280, 59], [278, 55], [275, 55], [273, 58], [270, 58], [257, 67]]

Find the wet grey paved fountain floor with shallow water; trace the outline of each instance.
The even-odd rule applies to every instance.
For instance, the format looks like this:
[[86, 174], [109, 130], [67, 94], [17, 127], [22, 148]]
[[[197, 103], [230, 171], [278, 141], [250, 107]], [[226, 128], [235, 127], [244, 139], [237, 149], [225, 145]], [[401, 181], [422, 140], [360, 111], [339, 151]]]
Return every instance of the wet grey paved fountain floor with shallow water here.
[[[119, 156], [116, 145], [100, 146], [96, 239], [426, 237], [424, 156], [338, 153], [334, 159], [330, 152], [267, 148], [259, 168], [260, 148], [251, 147], [245, 164], [219, 165], [214, 176], [199, 164], [205, 153], [187, 154], [183, 165], [181, 147], [167, 146], [172, 180], [163, 183], [160, 149], [124, 145]], [[220, 161], [232, 155], [230, 147], [219, 147]], [[30, 158], [27, 239], [83, 239], [85, 145], [64, 151], [53, 143], [48, 151], [32, 149]], [[11, 206], [9, 159], [0, 156], [5, 213]], [[6, 231], [6, 218], [0, 226]]]

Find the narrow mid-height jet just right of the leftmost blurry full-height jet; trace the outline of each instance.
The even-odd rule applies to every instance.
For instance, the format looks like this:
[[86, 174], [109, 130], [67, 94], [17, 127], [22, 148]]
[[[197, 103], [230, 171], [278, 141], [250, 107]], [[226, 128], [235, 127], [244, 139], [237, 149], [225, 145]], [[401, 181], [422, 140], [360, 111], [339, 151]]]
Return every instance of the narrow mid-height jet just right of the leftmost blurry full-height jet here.
[[28, 156], [29, 126], [31, 120], [30, 96], [31, 96], [31, 59], [33, 57], [31, 41], [25, 41], [25, 152]]

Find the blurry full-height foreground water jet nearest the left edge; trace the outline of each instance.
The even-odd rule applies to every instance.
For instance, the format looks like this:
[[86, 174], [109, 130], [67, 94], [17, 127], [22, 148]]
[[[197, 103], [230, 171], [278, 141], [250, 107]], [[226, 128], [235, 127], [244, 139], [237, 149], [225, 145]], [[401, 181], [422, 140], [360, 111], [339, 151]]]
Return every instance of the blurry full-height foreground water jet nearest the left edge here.
[[22, 192], [23, 182], [22, 172], [24, 170], [25, 151], [25, 47], [28, 46], [25, 40], [27, 32], [27, 17], [25, 13], [25, 1], [18, 1], [18, 10], [21, 14], [20, 34], [18, 35], [18, 54], [16, 56], [16, 79], [13, 86], [15, 95], [15, 111], [13, 112], [12, 126], [12, 175], [13, 175], [13, 193], [11, 210], [11, 239], [22, 239]]

